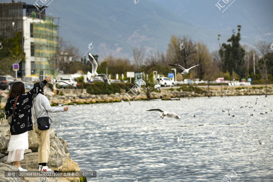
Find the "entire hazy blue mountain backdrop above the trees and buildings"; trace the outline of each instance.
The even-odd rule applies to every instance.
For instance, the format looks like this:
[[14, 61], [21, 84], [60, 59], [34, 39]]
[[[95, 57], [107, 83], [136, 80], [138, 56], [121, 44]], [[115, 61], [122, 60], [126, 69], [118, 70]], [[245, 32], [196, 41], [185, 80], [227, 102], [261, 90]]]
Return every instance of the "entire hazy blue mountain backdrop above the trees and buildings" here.
[[[272, 3], [262, 2], [236, 0], [233, 5], [273, 42], [273, 25], [269, 23]], [[242, 26], [242, 43], [254, 45], [266, 40], [236, 8], [231, 6], [221, 13], [216, 3], [214, 0], [139, 0], [137, 4], [133, 0], [59, 0], [51, 2], [45, 11], [47, 15], [60, 17], [61, 37], [70, 40], [83, 56], [91, 52], [98, 54], [99, 60], [109, 54], [130, 58], [133, 47], [140, 47], [146, 53], [156, 49], [166, 52], [172, 35], [188, 35], [194, 41], [206, 43], [213, 51], [219, 49], [217, 35], [221, 34], [220, 42], [225, 42], [232, 29], [237, 32], [237, 25]], [[88, 50], [91, 42], [93, 49]]]

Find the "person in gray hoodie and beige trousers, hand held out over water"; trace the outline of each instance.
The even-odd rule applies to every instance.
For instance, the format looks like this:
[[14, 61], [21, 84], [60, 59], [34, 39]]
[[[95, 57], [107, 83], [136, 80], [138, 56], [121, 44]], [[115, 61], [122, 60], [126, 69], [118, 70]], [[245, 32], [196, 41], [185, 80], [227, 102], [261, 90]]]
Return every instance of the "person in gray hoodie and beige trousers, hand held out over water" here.
[[[39, 83], [34, 84], [34, 88]], [[38, 170], [41, 172], [54, 172], [46, 166], [49, 158], [50, 141], [49, 141], [49, 130], [39, 130], [37, 124], [37, 118], [49, 117], [48, 112], [64, 112], [67, 111], [68, 107], [51, 107], [48, 98], [44, 96], [43, 90], [39, 93], [32, 101], [31, 111], [34, 118], [35, 133], [39, 143], [38, 147]], [[50, 119], [51, 120], [51, 119]], [[50, 122], [49, 122], [50, 123]], [[50, 125], [50, 124], [49, 124]]]

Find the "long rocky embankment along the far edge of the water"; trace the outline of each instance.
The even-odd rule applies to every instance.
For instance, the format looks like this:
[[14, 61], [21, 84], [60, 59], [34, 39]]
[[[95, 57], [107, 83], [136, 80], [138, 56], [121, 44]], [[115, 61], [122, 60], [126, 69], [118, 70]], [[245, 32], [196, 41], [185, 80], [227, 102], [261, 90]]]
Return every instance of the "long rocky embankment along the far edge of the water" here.
[[[66, 105], [73, 104], [92, 104], [92, 103], [111, 103], [111, 102], [122, 102], [128, 101], [126, 98], [125, 90], [122, 90], [121, 93], [115, 94], [104, 94], [104, 95], [92, 95], [86, 92], [86, 89], [77, 89], [74, 91], [73, 89], [64, 89], [62, 90], [64, 93], [63, 96], [60, 95], [47, 95], [49, 102], [52, 106], [57, 106], [59, 103], [67, 103]], [[76, 93], [75, 93], [76, 92]], [[225, 94], [227, 93], [227, 95]], [[252, 87], [252, 88], [243, 88], [243, 87], [229, 87], [229, 90], [226, 91], [224, 87], [222, 89], [211, 89], [210, 88], [210, 96], [247, 96], [247, 95], [261, 95], [265, 93], [265, 87]], [[130, 97], [136, 98], [138, 95], [134, 95], [133, 93], [128, 93]], [[267, 95], [273, 94], [273, 88], [267, 88]], [[162, 100], [173, 100], [173, 98], [180, 97], [207, 97], [208, 89], [196, 87], [196, 91], [194, 89], [161, 89], [161, 93], [159, 92], [151, 92], [150, 99], [162, 99]], [[130, 99], [130, 102], [133, 102], [133, 99]], [[149, 100], [145, 94], [141, 94], [137, 97], [136, 100]], [[58, 102], [57, 102], [58, 101]], [[70, 103], [69, 103], [70, 102]]]

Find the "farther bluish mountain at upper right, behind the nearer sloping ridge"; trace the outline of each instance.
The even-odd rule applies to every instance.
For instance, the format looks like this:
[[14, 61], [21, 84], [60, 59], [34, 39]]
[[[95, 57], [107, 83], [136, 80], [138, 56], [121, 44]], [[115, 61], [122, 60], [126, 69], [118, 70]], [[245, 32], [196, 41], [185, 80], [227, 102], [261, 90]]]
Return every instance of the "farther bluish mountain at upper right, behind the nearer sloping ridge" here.
[[[221, 35], [227, 33], [230, 36], [232, 29], [236, 30], [237, 25], [241, 25], [242, 42], [246, 44], [254, 45], [260, 40], [273, 42], [273, 24], [269, 16], [273, 9], [272, 0], [235, 0], [224, 13], [215, 6], [218, 0], [172, 0], [172, 3], [165, 0], [150, 1], [162, 5], [194, 25], [202, 25], [207, 20], [205, 15], [213, 14], [211, 21], [207, 21], [203, 27], [213, 29]], [[219, 3], [225, 5], [222, 0]], [[224, 40], [226, 39], [222, 38]]]

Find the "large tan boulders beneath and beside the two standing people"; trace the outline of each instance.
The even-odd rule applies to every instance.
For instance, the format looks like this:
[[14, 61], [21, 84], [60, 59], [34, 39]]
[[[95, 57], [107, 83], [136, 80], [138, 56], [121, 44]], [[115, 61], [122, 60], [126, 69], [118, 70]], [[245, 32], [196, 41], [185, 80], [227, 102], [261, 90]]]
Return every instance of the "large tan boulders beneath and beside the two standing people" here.
[[[37, 182], [40, 178], [35, 177], [17, 177], [17, 178], [5, 178], [5, 170], [18, 170], [17, 167], [12, 166], [12, 163], [7, 162], [8, 158], [8, 143], [11, 137], [9, 131], [10, 126], [7, 120], [3, 120], [0, 125], [0, 181], [5, 182]], [[47, 166], [55, 171], [80, 171], [78, 163], [74, 162], [69, 157], [68, 143], [62, 138], [57, 137], [56, 133], [50, 128], [50, 153]], [[38, 140], [34, 130], [29, 131], [29, 149], [25, 150], [24, 160], [21, 161], [21, 166], [26, 170], [37, 170], [38, 168]], [[83, 182], [84, 178], [49, 178], [50, 182]]]

